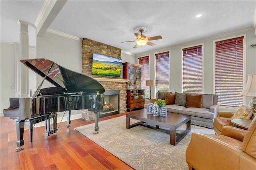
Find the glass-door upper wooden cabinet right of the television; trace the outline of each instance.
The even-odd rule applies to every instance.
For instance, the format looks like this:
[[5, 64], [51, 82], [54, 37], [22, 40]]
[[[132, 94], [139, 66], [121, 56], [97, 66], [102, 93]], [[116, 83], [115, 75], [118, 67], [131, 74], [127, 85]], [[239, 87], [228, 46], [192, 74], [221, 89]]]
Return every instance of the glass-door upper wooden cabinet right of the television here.
[[141, 67], [140, 64], [122, 63], [123, 64], [123, 79], [129, 80], [127, 89], [141, 89]]

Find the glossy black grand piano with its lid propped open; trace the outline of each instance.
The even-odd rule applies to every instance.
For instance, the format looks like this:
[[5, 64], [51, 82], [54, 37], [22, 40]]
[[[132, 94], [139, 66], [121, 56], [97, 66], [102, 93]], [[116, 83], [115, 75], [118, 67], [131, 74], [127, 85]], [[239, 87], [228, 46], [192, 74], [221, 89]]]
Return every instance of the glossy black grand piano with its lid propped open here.
[[[4, 109], [4, 117], [10, 117], [16, 124], [17, 149], [23, 150], [24, 125], [29, 125], [32, 142], [33, 125], [46, 123], [45, 135], [57, 132], [57, 113], [66, 112], [67, 126], [70, 126], [72, 110], [88, 109], [95, 116], [95, 134], [98, 133], [99, 112], [102, 111], [104, 87], [92, 77], [66, 69], [48, 59], [20, 60], [28, 68], [43, 77], [32, 97], [10, 98], [10, 107]], [[44, 80], [54, 87], [41, 89]]]

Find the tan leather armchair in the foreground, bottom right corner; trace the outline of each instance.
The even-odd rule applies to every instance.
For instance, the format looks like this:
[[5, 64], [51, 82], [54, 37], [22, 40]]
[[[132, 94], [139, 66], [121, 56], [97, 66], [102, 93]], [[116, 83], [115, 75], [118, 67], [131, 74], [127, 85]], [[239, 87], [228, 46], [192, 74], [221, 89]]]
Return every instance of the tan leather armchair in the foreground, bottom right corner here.
[[192, 133], [186, 150], [189, 170], [255, 170], [256, 118], [248, 130], [225, 126], [221, 134]]

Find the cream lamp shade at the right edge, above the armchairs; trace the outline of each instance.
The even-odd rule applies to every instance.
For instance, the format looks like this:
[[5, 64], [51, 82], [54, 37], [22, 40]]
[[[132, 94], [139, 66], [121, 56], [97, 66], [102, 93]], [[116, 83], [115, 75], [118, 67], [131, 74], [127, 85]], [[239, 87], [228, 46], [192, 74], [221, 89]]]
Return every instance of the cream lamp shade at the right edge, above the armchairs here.
[[256, 74], [249, 74], [242, 96], [256, 96]]

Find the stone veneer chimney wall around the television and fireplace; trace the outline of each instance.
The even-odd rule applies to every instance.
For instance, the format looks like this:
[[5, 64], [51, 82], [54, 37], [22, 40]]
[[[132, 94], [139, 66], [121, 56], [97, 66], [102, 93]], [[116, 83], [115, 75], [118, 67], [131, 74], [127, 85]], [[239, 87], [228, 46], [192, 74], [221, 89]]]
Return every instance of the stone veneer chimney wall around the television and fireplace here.
[[[82, 40], [82, 73], [85, 75], [89, 75], [94, 77], [95, 79], [100, 78], [108, 78], [110, 81], [100, 81], [98, 80], [106, 91], [108, 90], [119, 90], [120, 91], [120, 100], [119, 113], [126, 112], [126, 82], [114, 81], [113, 79], [117, 79], [114, 77], [97, 77], [92, 75], [92, 55], [93, 53], [98, 53], [102, 55], [108, 55], [110, 57], [121, 58], [121, 49], [117, 47], [113, 47], [111, 45], [107, 45], [104, 43], [96, 42], [94, 40], [89, 40], [87, 38], [83, 38]], [[112, 80], [111, 80], [112, 79]], [[120, 78], [118, 78], [120, 79]]]

